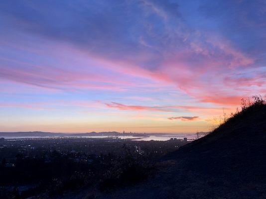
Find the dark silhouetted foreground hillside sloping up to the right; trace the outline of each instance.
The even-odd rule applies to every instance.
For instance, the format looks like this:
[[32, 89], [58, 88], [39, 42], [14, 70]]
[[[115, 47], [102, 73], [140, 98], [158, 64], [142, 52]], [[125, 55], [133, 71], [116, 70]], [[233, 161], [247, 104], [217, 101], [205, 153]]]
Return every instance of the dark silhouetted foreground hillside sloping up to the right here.
[[66, 198], [266, 199], [266, 105], [246, 108], [158, 165], [156, 175], [134, 187]]

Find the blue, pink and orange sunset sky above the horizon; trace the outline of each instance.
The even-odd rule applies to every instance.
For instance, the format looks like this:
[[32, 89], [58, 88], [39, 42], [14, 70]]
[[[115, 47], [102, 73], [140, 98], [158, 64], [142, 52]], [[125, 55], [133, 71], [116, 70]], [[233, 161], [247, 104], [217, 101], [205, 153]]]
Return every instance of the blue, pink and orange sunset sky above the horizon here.
[[266, 95], [265, 0], [5, 0], [0, 131], [209, 131]]

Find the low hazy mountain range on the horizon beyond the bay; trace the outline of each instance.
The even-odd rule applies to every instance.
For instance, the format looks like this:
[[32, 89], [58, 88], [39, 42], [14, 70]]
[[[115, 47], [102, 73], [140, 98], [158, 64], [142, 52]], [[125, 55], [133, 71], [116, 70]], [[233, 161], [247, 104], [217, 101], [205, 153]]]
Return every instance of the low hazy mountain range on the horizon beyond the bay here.
[[42, 131], [29, 131], [29, 132], [0, 132], [0, 137], [47, 137], [47, 136], [119, 136], [131, 135], [134, 137], [143, 137], [151, 135], [168, 135], [169, 133], [119, 133], [116, 131], [111, 132], [88, 132], [88, 133], [53, 133]]

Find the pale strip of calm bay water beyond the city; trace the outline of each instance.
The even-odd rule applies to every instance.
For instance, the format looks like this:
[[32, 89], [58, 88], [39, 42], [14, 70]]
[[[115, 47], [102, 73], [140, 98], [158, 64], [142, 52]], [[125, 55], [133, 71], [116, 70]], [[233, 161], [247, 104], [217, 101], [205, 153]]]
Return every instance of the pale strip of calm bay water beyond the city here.
[[[58, 138], [58, 137], [75, 137], [75, 136], [21, 136], [21, 137], [8, 137], [3, 136], [5, 139], [25, 139], [25, 138]], [[169, 135], [151, 135], [148, 137], [134, 137], [134, 136], [76, 136], [79, 138], [86, 137], [86, 138], [113, 138], [113, 139], [134, 139], [138, 141], [150, 141], [150, 140], [156, 140], [156, 141], [166, 141], [170, 138], [177, 138], [177, 139], [183, 139], [186, 137], [188, 140], [195, 139], [195, 134], [169, 134]]]

